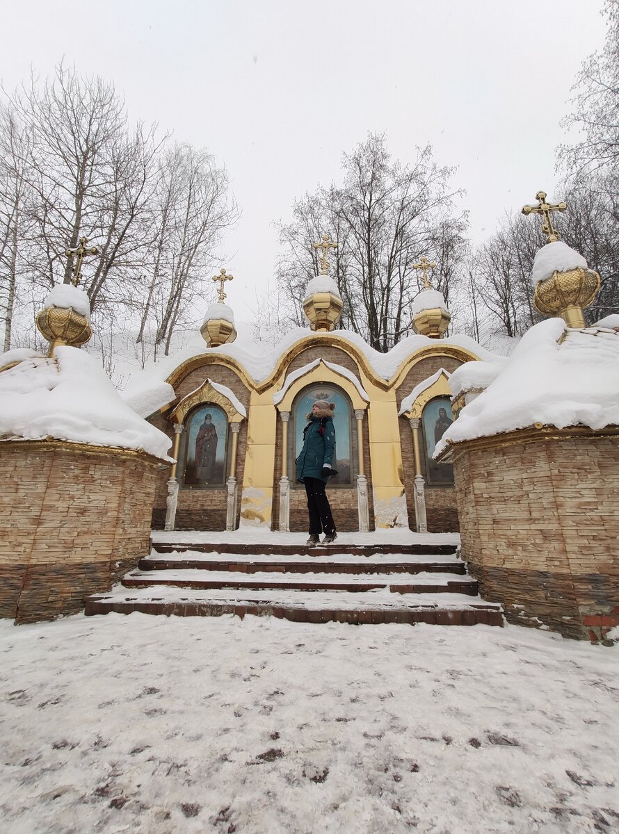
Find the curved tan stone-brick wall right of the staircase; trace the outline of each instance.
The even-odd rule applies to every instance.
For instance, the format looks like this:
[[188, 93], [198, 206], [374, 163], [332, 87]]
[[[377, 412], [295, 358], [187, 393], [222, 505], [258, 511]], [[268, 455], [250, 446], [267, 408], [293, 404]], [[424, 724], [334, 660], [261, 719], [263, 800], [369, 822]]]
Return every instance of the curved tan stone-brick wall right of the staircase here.
[[455, 446], [462, 556], [507, 620], [594, 641], [619, 625], [618, 447], [578, 429]]

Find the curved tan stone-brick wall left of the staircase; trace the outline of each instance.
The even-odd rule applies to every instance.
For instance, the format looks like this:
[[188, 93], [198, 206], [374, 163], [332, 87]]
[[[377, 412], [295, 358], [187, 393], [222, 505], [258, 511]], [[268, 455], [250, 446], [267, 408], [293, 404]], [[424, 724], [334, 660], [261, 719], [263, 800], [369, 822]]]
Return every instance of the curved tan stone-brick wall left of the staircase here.
[[138, 452], [3, 442], [0, 616], [73, 614], [135, 567], [148, 554], [159, 466]]

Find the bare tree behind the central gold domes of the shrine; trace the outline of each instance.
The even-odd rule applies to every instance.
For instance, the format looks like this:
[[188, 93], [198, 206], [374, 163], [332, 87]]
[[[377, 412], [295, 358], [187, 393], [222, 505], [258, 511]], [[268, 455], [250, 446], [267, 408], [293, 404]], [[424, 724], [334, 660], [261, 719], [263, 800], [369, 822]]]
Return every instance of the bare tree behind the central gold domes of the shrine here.
[[403, 167], [391, 160], [385, 137], [370, 134], [344, 155], [343, 168], [341, 186], [306, 194], [294, 203], [292, 223], [278, 224], [284, 252], [277, 274], [301, 324], [295, 299], [318, 272], [312, 244], [331, 234], [339, 243], [331, 274], [344, 302], [343, 322], [385, 351], [409, 326], [408, 307], [419, 289], [415, 259], [440, 252], [448, 262], [443, 284], [456, 280], [466, 218], [453, 216], [452, 172], [436, 165], [430, 147]]

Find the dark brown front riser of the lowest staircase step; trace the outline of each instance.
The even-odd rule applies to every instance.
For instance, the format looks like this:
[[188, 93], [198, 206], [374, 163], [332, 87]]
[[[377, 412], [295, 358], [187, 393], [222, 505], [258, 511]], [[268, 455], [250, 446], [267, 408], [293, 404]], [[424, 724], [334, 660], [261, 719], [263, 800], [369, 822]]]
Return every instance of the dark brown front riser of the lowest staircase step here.
[[350, 625], [382, 625], [385, 623], [405, 623], [415, 625], [503, 625], [503, 612], [500, 609], [466, 608], [439, 610], [307, 610], [284, 605], [234, 605], [220, 603], [184, 603], [163, 601], [112, 601], [95, 596], [86, 600], [86, 616], [98, 614], [142, 614], [164, 616], [203, 616], [217, 617], [234, 614], [243, 619], [246, 615], [274, 616], [279, 620], [293, 622], [325, 623], [340, 622]]

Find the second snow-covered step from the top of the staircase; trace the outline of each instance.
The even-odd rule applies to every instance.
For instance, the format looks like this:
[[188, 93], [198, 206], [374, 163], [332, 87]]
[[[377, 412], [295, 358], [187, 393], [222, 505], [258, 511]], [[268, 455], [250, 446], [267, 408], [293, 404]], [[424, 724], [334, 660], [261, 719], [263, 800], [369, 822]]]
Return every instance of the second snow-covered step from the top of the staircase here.
[[140, 570], [231, 570], [242, 573], [274, 571], [276, 573], [466, 573], [464, 562], [445, 555], [366, 555], [334, 553], [330, 555], [221, 555], [216, 552], [179, 550], [175, 553], [151, 554], [139, 561]]

